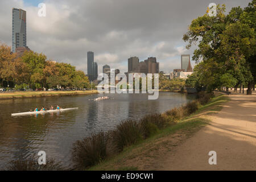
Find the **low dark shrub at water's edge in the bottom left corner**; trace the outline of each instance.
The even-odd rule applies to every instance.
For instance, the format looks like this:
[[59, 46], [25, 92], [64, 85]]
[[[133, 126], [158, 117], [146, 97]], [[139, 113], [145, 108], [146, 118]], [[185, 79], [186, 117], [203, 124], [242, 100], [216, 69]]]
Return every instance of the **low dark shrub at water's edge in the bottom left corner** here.
[[7, 166], [8, 171], [63, 171], [63, 166], [53, 159], [48, 159], [46, 164], [39, 165], [36, 160], [13, 160]]

